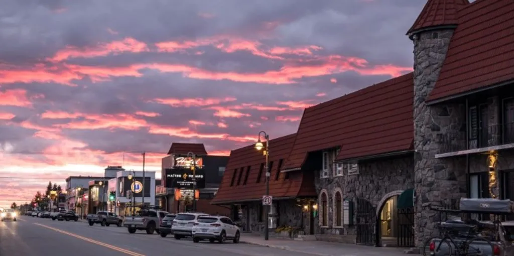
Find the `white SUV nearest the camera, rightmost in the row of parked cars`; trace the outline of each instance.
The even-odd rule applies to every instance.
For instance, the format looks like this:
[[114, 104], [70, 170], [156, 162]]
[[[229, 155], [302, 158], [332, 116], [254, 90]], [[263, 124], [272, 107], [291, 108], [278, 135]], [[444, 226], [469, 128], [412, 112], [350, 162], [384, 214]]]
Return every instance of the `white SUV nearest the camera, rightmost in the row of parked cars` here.
[[234, 243], [239, 243], [241, 231], [235, 223], [224, 216], [201, 216], [198, 217], [193, 226], [193, 242], [208, 239], [209, 242], [224, 243], [227, 239], [232, 239]]

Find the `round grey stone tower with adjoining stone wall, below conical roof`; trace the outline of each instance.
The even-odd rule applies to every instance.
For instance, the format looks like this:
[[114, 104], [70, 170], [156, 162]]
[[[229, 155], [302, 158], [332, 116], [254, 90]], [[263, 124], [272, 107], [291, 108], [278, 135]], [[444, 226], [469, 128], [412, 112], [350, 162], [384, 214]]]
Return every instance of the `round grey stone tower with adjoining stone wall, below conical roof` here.
[[439, 215], [431, 204], [458, 199], [466, 195], [466, 168], [463, 158], [436, 159], [445, 146], [441, 136], [466, 132], [465, 106], [446, 104], [427, 106], [425, 100], [435, 86], [453, 35], [452, 29], [431, 30], [416, 34], [414, 40], [414, 157], [415, 242], [422, 246], [435, 234]]

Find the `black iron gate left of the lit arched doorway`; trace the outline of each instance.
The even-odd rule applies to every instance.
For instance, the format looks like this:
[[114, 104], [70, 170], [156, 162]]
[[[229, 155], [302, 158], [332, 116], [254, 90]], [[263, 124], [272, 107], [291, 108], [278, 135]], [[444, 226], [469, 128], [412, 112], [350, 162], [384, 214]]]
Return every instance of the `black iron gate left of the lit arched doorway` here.
[[366, 199], [357, 198], [355, 211], [357, 244], [376, 246], [376, 208]]

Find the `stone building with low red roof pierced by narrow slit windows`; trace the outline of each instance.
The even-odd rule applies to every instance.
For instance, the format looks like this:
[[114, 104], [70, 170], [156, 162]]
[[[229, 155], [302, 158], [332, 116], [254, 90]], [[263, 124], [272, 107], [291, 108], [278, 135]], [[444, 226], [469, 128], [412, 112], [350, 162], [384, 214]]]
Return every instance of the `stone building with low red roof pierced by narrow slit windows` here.
[[[296, 134], [269, 142], [269, 195], [273, 203], [269, 211], [270, 233], [276, 228], [291, 227], [314, 234], [314, 218], [307, 212], [315, 205], [317, 193], [312, 173], [281, 173]], [[264, 143], [266, 145], [266, 143]], [[254, 145], [232, 150], [219, 190], [211, 204], [231, 208], [231, 218], [245, 232], [263, 232], [265, 210], [262, 197], [266, 194], [265, 156]]]

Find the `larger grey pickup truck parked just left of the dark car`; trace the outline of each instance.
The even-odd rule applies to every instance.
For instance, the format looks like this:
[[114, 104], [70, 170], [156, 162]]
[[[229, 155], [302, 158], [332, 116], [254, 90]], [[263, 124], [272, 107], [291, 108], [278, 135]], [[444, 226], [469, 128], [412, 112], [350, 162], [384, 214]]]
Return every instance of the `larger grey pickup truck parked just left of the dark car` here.
[[159, 226], [162, 219], [170, 214], [169, 212], [156, 210], [142, 210], [137, 216], [125, 217], [123, 227], [128, 229], [128, 233], [135, 233], [136, 230], [146, 230], [147, 234], [159, 233]]

